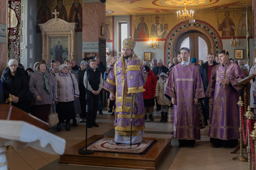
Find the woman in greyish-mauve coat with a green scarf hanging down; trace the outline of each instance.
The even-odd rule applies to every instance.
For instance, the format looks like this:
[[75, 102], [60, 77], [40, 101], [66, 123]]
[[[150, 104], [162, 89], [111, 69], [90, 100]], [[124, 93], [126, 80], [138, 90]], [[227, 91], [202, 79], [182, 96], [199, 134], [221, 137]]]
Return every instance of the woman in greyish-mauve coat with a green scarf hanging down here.
[[46, 62], [41, 61], [38, 67], [29, 80], [29, 90], [34, 98], [30, 103], [30, 113], [47, 122], [51, 106], [56, 101], [55, 82]]

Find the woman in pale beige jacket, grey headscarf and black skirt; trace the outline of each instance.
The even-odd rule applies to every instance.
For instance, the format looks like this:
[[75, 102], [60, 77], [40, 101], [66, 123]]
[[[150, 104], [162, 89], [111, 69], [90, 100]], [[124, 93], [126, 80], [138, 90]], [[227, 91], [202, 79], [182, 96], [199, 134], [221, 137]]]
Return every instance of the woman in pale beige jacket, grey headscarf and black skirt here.
[[[79, 98], [79, 89], [76, 77], [68, 71], [66, 64], [61, 64], [59, 73], [54, 79], [56, 88], [56, 112], [59, 121], [66, 120], [65, 130], [70, 131], [69, 122], [74, 118], [74, 100]], [[57, 131], [61, 131], [60, 122], [57, 124]]]

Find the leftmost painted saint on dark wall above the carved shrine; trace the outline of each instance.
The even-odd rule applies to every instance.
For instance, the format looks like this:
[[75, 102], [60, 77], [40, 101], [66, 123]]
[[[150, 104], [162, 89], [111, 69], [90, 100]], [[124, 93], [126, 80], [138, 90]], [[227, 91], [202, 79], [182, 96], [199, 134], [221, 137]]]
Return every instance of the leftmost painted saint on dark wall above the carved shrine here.
[[[47, 1], [42, 0], [42, 6], [39, 8], [39, 11], [37, 13], [36, 23], [44, 24], [50, 19], [52, 19], [51, 10], [47, 5]], [[37, 29], [40, 29], [38, 25], [37, 25]]]

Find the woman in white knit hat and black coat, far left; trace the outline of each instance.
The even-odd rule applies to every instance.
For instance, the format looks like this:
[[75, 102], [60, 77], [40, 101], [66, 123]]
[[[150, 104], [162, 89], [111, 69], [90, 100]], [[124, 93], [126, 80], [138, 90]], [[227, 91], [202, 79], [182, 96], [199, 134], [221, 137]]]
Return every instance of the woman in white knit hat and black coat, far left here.
[[23, 68], [18, 67], [18, 62], [11, 59], [4, 69], [1, 82], [4, 90], [4, 101], [12, 96], [12, 105], [29, 113], [29, 103], [25, 100], [25, 95], [29, 90], [28, 79]]

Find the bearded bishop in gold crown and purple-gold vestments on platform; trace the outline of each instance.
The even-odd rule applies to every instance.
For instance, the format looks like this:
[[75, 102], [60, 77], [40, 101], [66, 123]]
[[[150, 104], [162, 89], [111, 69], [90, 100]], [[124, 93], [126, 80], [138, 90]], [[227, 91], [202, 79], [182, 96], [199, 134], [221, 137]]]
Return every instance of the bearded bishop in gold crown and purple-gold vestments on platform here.
[[[131, 105], [132, 111], [132, 144], [139, 143], [144, 137], [144, 100], [143, 86], [147, 80], [144, 65], [133, 52], [135, 41], [126, 38], [123, 41], [123, 55], [108, 73], [103, 89], [110, 92], [110, 100], [115, 100], [115, 141], [130, 144]], [[133, 101], [131, 101], [131, 93]]]

